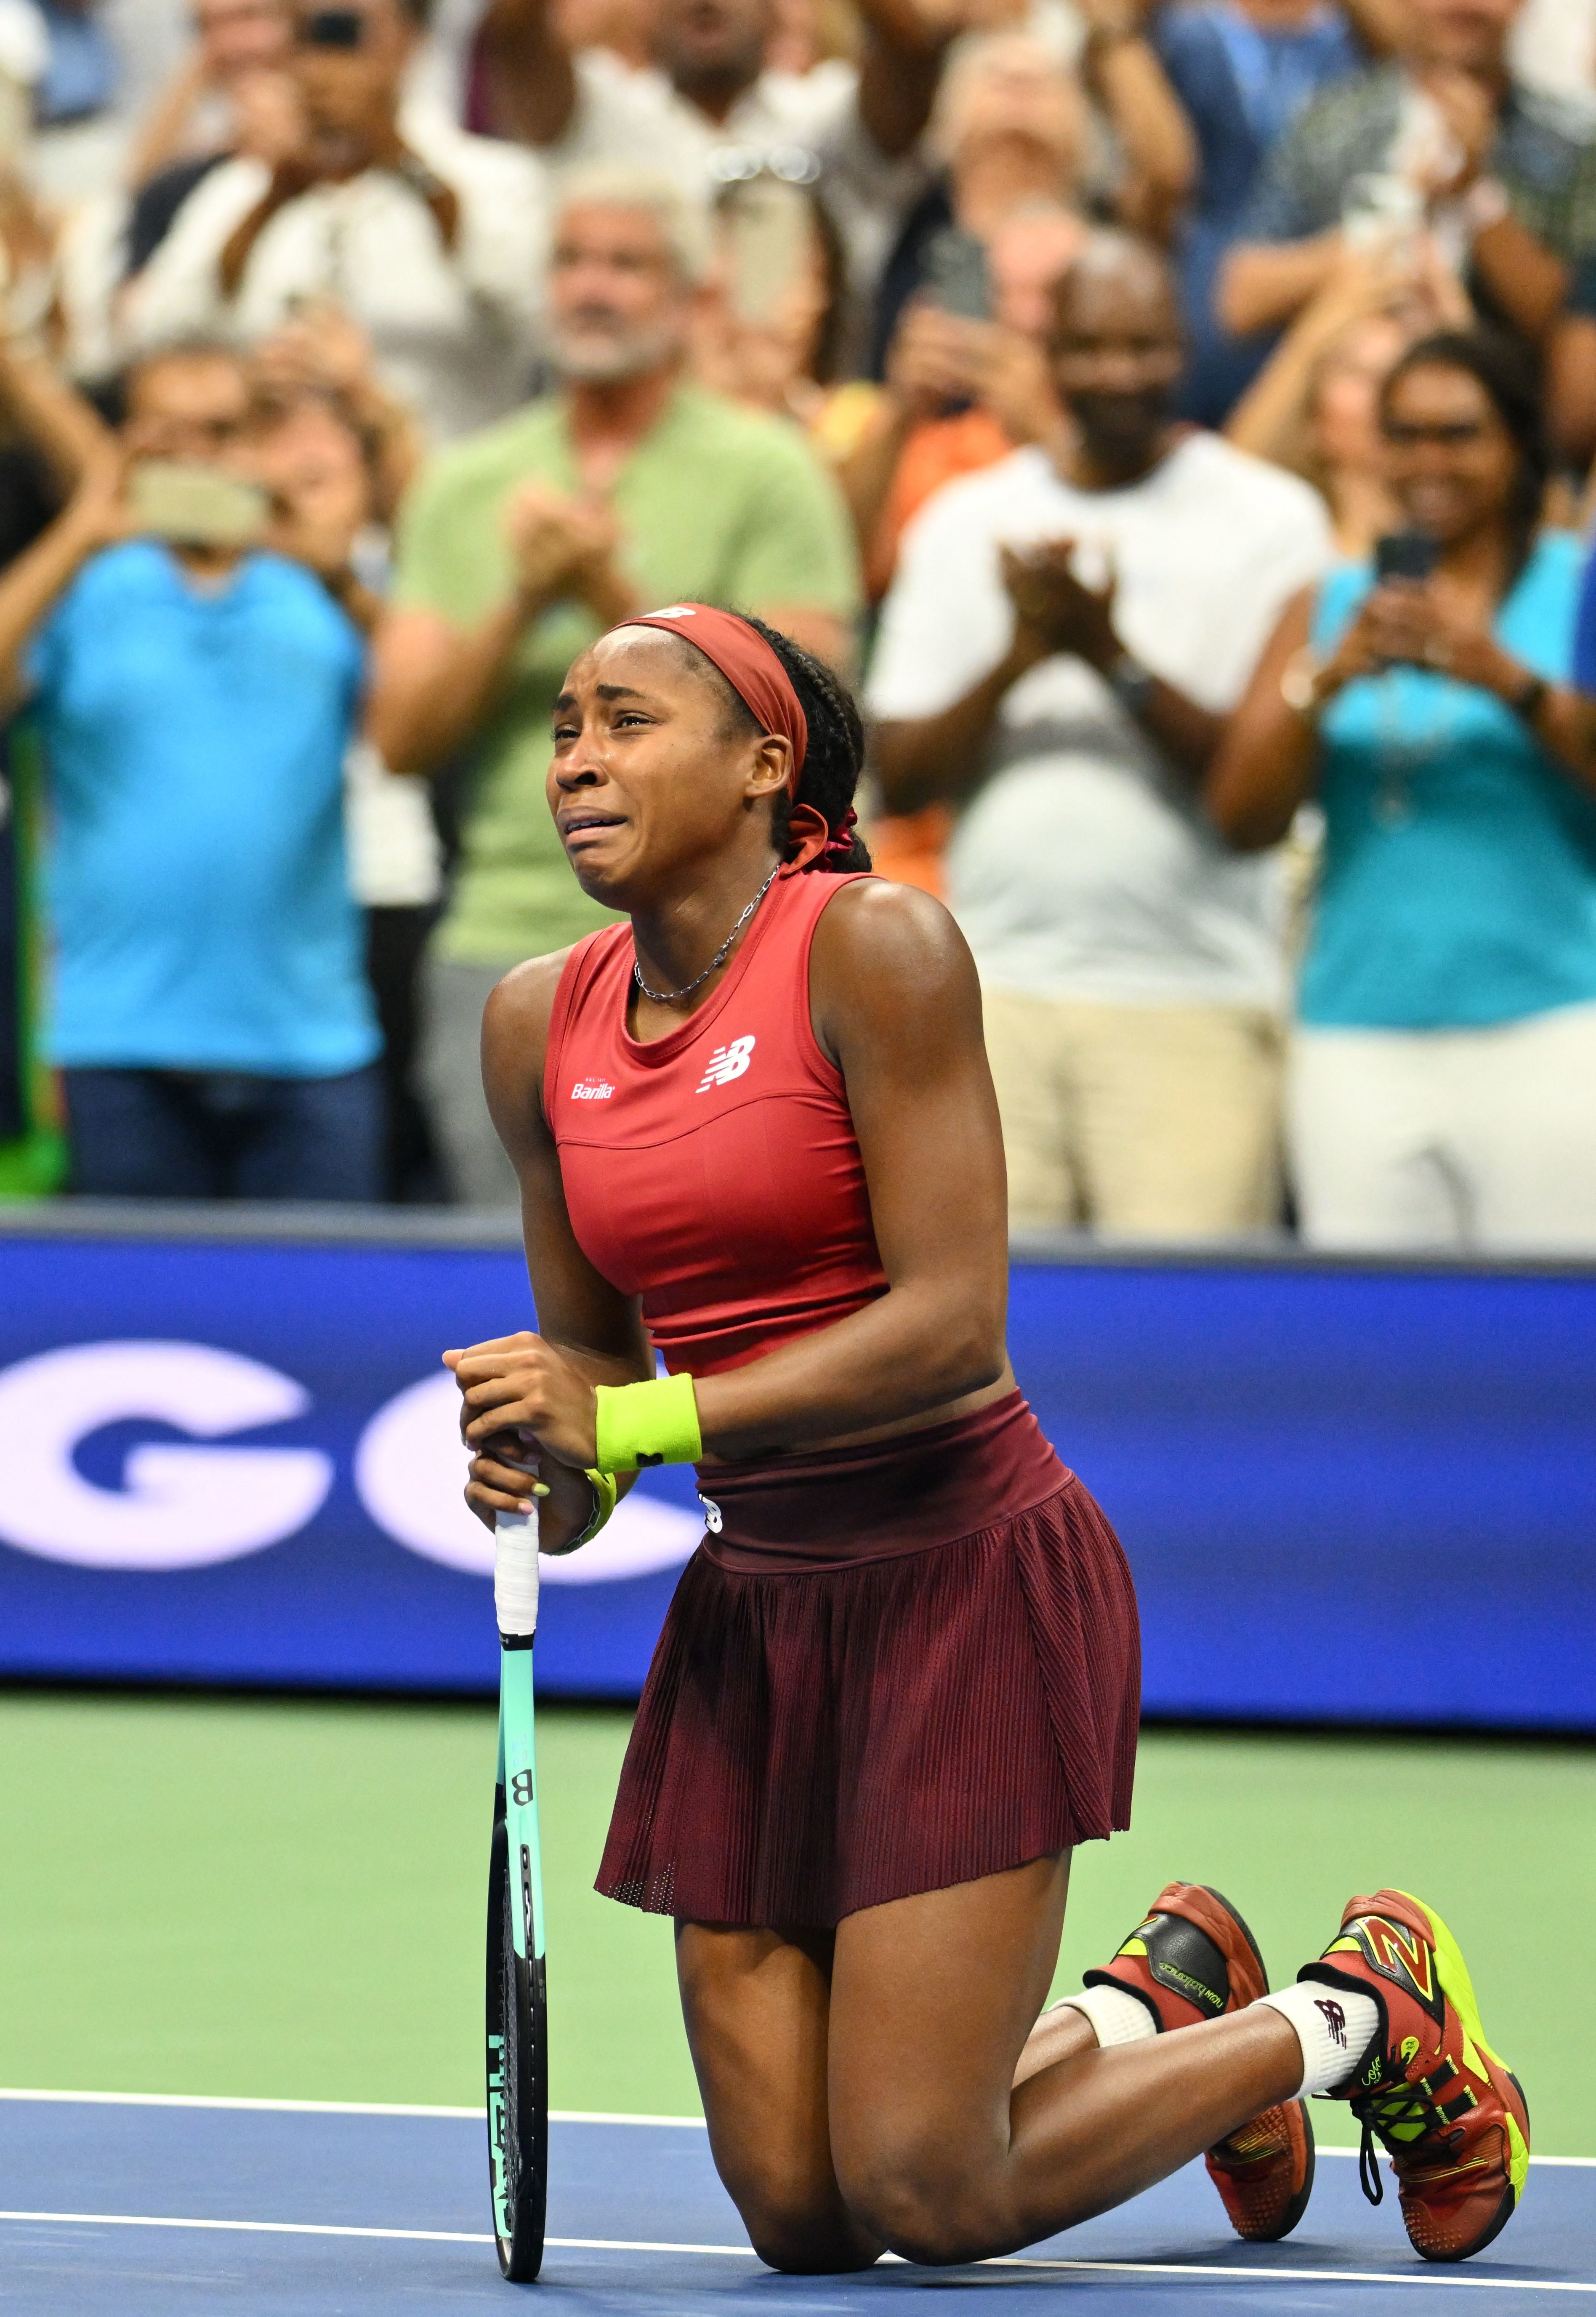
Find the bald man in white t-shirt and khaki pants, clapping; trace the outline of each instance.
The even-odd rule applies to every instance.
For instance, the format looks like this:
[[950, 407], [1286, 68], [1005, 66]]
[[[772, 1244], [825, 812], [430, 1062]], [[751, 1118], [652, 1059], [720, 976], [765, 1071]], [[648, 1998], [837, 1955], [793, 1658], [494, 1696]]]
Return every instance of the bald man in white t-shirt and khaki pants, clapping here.
[[924, 507], [869, 681], [887, 806], [961, 806], [1019, 1228], [1279, 1219], [1281, 864], [1230, 855], [1198, 788], [1330, 531], [1295, 475], [1170, 424], [1181, 352], [1158, 250], [1093, 234], [1052, 334], [1072, 429]]

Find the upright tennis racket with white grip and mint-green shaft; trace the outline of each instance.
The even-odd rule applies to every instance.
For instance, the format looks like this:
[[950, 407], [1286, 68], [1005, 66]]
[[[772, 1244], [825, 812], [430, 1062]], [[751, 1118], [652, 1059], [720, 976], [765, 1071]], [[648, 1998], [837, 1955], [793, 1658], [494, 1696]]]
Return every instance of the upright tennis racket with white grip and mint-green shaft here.
[[533, 1754], [535, 1513], [498, 1515], [493, 1603], [500, 1650], [489, 1861], [489, 2190], [498, 2266], [512, 2285], [530, 2285], [542, 2268], [549, 2194], [549, 2009]]

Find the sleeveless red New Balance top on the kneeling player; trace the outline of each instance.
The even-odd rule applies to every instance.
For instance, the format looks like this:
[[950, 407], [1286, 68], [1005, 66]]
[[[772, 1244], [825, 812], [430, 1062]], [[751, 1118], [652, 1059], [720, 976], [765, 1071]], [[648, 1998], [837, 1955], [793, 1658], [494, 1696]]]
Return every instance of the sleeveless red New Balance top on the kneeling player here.
[[544, 1114], [584, 1256], [672, 1374], [713, 1376], [887, 1293], [841, 1070], [808, 1017], [808, 948], [850, 876], [776, 878], [707, 1006], [625, 1026], [632, 929], [565, 959]]

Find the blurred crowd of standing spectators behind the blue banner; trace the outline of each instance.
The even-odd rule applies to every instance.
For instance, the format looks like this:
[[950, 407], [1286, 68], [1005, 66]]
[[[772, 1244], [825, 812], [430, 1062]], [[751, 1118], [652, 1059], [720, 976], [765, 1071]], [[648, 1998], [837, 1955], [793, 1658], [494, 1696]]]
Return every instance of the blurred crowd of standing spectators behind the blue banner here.
[[700, 598], [1017, 1228], [1596, 1253], [1596, 0], [0, 0], [0, 1191], [512, 1203]]

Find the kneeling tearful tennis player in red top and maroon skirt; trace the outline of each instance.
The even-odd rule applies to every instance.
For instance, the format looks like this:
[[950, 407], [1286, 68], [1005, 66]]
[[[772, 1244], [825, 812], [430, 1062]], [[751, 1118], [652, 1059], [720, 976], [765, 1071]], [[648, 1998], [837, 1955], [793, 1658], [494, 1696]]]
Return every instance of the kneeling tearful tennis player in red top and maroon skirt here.
[[975, 971], [869, 876], [859, 760], [827, 670], [704, 605], [614, 628], [556, 707], [565, 850], [630, 922], [489, 1003], [542, 1332], [447, 1358], [470, 1504], [528, 1508], [530, 1443], [544, 1550], [637, 1467], [700, 1471], [598, 1888], [676, 1918], [716, 2166], [776, 2268], [1010, 2252], [1198, 2150], [1283, 2236], [1306, 2092], [1464, 2259], [1529, 2125], [1418, 1900], [1350, 1900], [1267, 1995], [1239, 1914], [1170, 1884], [1042, 2011], [1070, 1851], [1130, 1812], [1135, 1596], [1008, 1365]]

